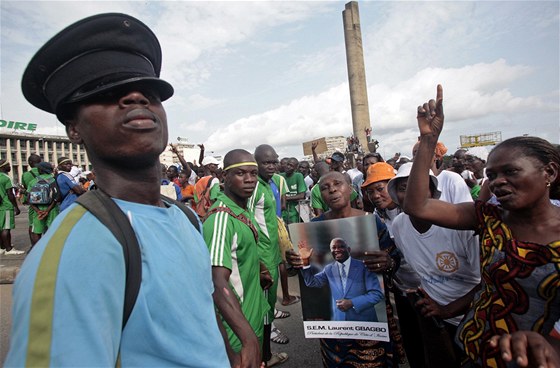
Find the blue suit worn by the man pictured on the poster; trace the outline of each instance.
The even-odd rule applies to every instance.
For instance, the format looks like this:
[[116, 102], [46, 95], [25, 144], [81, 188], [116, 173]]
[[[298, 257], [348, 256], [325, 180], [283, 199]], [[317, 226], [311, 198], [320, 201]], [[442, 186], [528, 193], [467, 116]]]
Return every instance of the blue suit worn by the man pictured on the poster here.
[[[331, 316], [333, 321], [377, 322], [375, 304], [384, 298], [377, 274], [368, 271], [359, 260], [350, 258], [350, 261], [345, 290], [342, 290], [336, 261], [325, 266], [317, 274], [313, 274], [312, 268], [301, 270], [305, 284], [308, 287], [322, 287], [326, 283], [329, 284], [333, 299]], [[346, 311], [340, 310], [336, 305], [336, 300], [339, 299], [350, 299], [354, 307]]]

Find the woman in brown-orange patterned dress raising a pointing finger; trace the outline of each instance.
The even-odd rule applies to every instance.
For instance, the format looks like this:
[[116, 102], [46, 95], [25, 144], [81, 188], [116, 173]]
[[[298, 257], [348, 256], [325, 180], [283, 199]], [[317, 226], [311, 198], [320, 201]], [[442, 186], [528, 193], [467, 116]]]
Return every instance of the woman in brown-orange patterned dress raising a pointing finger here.
[[[467, 366], [560, 367], [560, 155], [541, 138], [516, 137], [488, 156], [499, 205], [429, 198], [431, 158], [443, 128], [443, 88], [418, 107], [420, 145], [408, 180], [406, 213], [480, 235], [482, 288], [457, 340]], [[478, 251], [478, 249], [473, 249]], [[556, 325], [556, 329], [555, 329]]]

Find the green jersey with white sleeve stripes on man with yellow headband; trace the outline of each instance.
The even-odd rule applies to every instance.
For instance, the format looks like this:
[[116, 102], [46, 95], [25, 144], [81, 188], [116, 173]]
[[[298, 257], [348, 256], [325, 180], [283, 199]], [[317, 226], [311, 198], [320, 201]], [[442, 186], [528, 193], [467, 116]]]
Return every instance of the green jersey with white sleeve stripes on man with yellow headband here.
[[[223, 193], [217, 194], [216, 202], [210, 211], [219, 207], [227, 207], [235, 215], [243, 215], [255, 223], [247, 210], [239, 207]], [[257, 337], [262, 340], [263, 319], [269, 307], [260, 284], [259, 254], [253, 231], [243, 221], [223, 211], [208, 216], [204, 221], [203, 230], [212, 266], [225, 267], [231, 271], [230, 287], [239, 300], [243, 315]], [[231, 327], [225, 321], [223, 323], [232, 349], [239, 352], [242, 347], [241, 341]]]

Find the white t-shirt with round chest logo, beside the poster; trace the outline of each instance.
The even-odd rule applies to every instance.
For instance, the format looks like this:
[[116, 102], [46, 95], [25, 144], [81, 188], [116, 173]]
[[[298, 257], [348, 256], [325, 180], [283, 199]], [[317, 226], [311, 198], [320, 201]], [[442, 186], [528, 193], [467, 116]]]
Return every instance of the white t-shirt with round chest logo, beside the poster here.
[[[478, 236], [472, 231], [432, 225], [421, 234], [405, 213], [393, 220], [392, 230], [395, 244], [420, 276], [422, 288], [438, 304], [451, 303], [480, 282]], [[462, 318], [446, 321], [458, 325]]]

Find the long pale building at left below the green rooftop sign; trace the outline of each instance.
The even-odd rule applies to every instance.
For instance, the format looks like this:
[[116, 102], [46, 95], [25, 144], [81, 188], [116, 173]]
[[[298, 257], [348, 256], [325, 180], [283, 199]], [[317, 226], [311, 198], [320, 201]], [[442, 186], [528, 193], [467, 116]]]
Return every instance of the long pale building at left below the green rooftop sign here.
[[27, 158], [32, 153], [55, 166], [59, 157], [69, 157], [82, 170], [91, 170], [85, 149], [71, 143], [66, 136], [0, 132], [0, 159], [11, 163], [12, 171], [8, 175], [14, 183], [19, 183], [21, 174], [29, 169]]

